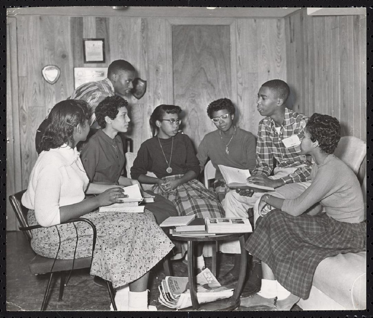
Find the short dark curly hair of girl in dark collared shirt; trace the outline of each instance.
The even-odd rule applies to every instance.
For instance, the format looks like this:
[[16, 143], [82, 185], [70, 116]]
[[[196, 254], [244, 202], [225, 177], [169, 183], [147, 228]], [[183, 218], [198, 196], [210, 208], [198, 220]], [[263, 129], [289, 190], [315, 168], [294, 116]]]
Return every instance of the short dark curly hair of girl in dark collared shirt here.
[[120, 96], [109, 96], [101, 101], [94, 111], [98, 125], [101, 128], [105, 128], [105, 117], [109, 116], [110, 119], [115, 119], [120, 107], [128, 109], [128, 102]]

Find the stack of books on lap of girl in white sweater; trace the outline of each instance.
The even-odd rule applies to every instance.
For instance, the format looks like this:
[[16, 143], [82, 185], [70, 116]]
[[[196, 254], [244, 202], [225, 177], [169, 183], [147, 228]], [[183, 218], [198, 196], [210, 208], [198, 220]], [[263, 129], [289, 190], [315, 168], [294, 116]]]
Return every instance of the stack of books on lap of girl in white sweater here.
[[107, 206], [100, 206], [99, 212], [127, 212], [127, 213], [144, 213], [144, 205], [140, 203], [154, 202], [153, 198], [143, 198], [141, 196], [140, 188], [138, 184], [130, 185], [129, 187], [123, 187], [124, 194], [128, 197], [118, 198], [122, 203], [113, 203]]

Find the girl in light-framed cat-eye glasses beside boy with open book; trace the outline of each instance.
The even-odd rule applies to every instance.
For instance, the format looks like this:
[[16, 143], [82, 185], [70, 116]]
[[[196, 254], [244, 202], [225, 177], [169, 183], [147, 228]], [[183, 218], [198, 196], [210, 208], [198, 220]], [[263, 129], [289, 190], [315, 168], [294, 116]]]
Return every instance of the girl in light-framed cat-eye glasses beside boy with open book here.
[[207, 107], [207, 115], [217, 130], [205, 135], [197, 151], [201, 171], [204, 169], [207, 158], [210, 158], [216, 168], [213, 188], [222, 203], [229, 188], [217, 165], [250, 171], [255, 167], [255, 137], [251, 132], [233, 125], [234, 113], [235, 108], [228, 98], [221, 98], [210, 103]]

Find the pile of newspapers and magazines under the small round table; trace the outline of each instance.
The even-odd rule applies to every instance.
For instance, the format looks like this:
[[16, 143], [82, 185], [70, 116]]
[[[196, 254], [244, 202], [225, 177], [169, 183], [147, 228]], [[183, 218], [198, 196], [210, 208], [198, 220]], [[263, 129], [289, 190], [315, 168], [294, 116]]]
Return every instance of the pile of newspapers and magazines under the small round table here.
[[[181, 309], [192, 306], [188, 277], [166, 276], [158, 287], [159, 302], [169, 308]], [[199, 303], [214, 302], [229, 298], [233, 289], [221, 286], [210, 269], [197, 275], [197, 299]]]

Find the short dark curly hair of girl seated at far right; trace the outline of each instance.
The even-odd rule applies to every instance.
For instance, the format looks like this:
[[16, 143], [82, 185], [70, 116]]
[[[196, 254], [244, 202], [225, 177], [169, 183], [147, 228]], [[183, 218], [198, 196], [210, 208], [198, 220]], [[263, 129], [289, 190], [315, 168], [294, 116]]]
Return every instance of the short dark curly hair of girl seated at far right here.
[[329, 155], [335, 151], [341, 139], [341, 125], [338, 119], [329, 115], [314, 113], [305, 130], [311, 135], [311, 141], [317, 140], [321, 151]]

